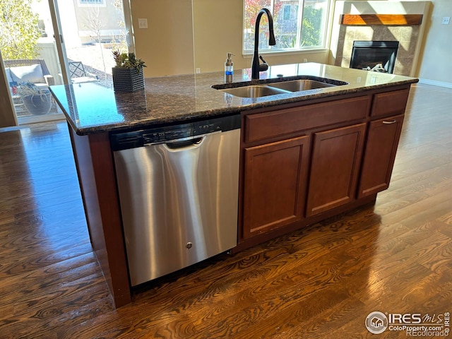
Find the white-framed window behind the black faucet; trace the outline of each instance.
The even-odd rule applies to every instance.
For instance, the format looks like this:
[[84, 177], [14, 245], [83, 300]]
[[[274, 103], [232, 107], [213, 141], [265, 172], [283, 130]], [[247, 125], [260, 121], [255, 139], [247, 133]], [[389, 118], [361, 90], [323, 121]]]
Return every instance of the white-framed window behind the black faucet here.
[[268, 46], [268, 20], [261, 18], [259, 51], [287, 52], [324, 48], [326, 19], [331, 0], [244, 0], [243, 52], [254, 50], [257, 13], [268, 8], [273, 15], [275, 46]]

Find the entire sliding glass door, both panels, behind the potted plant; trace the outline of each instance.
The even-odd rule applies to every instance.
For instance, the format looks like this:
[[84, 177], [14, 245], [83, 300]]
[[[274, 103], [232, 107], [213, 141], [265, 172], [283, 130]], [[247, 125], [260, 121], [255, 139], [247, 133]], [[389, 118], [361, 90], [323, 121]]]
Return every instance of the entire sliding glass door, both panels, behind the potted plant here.
[[129, 0], [1, 1], [0, 52], [19, 124], [63, 118], [49, 85], [112, 87], [112, 50], [133, 50], [129, 8]]

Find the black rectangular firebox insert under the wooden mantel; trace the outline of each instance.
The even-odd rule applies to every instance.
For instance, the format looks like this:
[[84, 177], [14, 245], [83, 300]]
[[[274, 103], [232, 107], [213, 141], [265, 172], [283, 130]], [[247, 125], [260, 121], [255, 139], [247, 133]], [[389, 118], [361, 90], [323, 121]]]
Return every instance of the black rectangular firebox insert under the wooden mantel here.
[[350, 69], [393, 73], [398, 41], [354, 41]]

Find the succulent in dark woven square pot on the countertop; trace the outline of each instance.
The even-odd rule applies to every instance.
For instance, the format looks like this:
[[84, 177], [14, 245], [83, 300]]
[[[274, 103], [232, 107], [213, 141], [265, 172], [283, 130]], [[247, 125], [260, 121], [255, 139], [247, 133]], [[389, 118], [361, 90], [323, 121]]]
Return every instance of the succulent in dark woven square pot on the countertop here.
[[124, 92], [134, 92], [144, 88], [144, 61], [136, 59], [135, 53], [113, 52], [116, 66], [112, 69], [113, 88]]

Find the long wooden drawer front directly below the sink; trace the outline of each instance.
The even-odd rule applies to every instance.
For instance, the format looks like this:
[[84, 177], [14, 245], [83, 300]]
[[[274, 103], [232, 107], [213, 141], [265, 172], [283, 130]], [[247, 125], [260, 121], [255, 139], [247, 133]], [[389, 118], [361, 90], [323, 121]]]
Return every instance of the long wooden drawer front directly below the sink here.
[[370, 108], [370, 96], [322, 102], [320, 104], [248, 114], [244, 119], [246, 143], [284, 134], [364, 119]]

